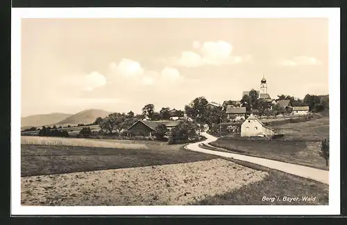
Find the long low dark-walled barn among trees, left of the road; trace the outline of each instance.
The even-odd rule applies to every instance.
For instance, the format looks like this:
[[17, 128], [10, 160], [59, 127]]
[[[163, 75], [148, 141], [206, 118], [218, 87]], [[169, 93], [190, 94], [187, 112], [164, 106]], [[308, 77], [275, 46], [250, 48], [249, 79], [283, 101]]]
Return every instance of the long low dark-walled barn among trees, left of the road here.
[[180, 120], [137, 120], [128, 128], [128, 132], [132, 136], [154, 136], [155, 127], [160, 124], [167, 126], [167, 129], [172, 129], [180, 123]]

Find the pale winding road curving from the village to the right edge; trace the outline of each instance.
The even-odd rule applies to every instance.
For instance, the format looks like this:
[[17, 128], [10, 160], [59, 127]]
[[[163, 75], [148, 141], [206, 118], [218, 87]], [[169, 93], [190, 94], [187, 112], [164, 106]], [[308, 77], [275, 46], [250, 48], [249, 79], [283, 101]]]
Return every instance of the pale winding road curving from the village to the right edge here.
[[[238, 159], [240, 161], [247, 161], [250, 163], [255, 163], [258, 165], [263, 165], [267, 168], [275, 169], [275, 170], [280, 170], [282, 172], [287, 172], [289, 174], [294, 174], [299, 177], [305, 177], [307, 179], [313, 179], [315, 181], [319, 181], [322, 183], [327, 183], [329, 184], [329, 171], [328, 170], [319, 170], [316, 168], [311, 168], [303, 165], [296, 165], [292, 163], [284, 163], [281, 161], [276, 161], [276, 160], [271, 160], [271, 159], [263, 159], [263, 158], [258, 158], [254, 156], [245, 156], [242, 154], [235, 154], [235, 153], [229, 153], [229, 152], [219, 152], [219, 151], [214, 151], [214, 150], [206, 150], [203, 149], [199, 146], [199, 144], [205, 144], [210, 147], [213, 147], [212, 145], [209, 145], [212, 141], [216, 141], [218, 138], [207, 134], [205, 132], [201, 133], [202, 136], [205, 136], [207, 139], [205, 141], [201, 141], [198, 143], [192, 143], [189, 145], [186, 145], [185, 148], [187, 150], [191, 150], [194, 152], [203, 152], [206, 154], [214, 154], [217, 156], [223, 156], [227, 158], [233, 158], [233, 159]], [[214, 147], [216, 148], [216, 147]]]

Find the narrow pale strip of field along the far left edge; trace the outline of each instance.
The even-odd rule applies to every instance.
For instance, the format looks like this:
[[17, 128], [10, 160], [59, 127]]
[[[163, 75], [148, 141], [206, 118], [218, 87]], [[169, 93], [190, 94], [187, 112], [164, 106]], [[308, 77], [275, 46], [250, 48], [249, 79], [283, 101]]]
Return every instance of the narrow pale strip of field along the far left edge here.
[[143, 150], [147, 146], [144, 143], [105, 141], [102, 139], [88, 138], [60, 138], [46, 136], [21, 136], [22, 145], [48, 145], [48, 146], [79, 146], [79, 147], [113, 147], [119, 149]]

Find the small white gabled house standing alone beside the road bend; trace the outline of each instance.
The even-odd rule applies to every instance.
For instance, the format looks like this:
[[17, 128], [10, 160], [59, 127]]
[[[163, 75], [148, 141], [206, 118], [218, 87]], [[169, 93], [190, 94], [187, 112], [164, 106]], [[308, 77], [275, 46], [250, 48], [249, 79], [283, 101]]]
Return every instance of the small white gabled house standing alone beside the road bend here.
[[266, 127], [253, 114], [246, 118], [241, 125], [241, 136], [272, 136], [273, 134], [275, 134], [274, 130], [271, 127]]

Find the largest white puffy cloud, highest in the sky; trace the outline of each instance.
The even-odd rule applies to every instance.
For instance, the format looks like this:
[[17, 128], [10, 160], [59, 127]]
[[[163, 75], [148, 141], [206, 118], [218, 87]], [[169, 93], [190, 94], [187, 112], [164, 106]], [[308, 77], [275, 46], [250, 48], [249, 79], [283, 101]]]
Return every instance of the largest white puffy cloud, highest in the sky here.
[[197, 67], [204, 64], [219, 66], [222, 64], [238, 64], [251, 59], [250, 55], [235, 56], [232, 55], [232, 45], [228, 42], [193, 42], [194, 51], [183, 51], [180, 57], [174, 60], [178, 66]]

